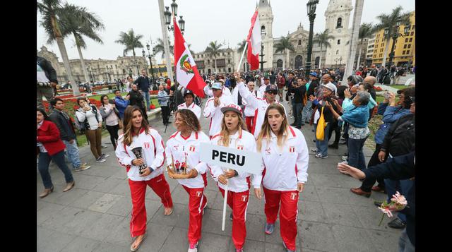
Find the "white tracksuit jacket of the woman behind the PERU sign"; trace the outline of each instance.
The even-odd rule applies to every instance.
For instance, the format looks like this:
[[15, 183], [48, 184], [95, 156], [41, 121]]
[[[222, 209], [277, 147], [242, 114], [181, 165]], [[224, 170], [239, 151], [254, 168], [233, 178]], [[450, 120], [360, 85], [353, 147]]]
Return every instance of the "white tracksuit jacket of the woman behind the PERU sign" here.
[[[217, 133], [213, 138], [210, 140], [210, 143], [213, 145], [222, 145], [222, 143], [218, 143], [218, 140], [220, 139], [220, 133]], [[233, 136], [230, 136], [230, 144], [229, 148], [237, 148], [239, 150], [247, 150], [250, 152], [256, 152], [256, 140], [254, 140], [254, 136], [249, 133], [248, 131], [242, 131], [242, 135], [239, 135], [239, 131], [235, 133]], [[217, 165], [208, 165], [210, 168], [210, 174], [212, 175], [213, 179], [218, 182], [218, 176], [223, 174], [223, 169], [226, 170], [226, 168], [219, 167]], [[236, 193], [241, 193], [243, 191], [249, 190], [249, 186], [252, 184], [254, 187], [258, 188], [261, 186], [261, 179], [262, 176], [253, 176], [250, 181], [250, 176], [252, 174], [249, 174], [248, 172], [239, 172], [237, 171], [239, 176], [234, 176], [233, 178], [228, 179], [227, 181], [227, 190], [228, 191], [234, 191]], [[218, 182], [218, 186], [220, 188], [225, 189], [226, 186]]]

